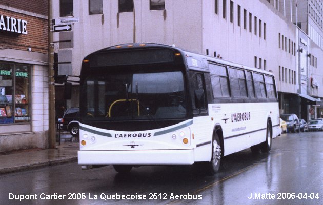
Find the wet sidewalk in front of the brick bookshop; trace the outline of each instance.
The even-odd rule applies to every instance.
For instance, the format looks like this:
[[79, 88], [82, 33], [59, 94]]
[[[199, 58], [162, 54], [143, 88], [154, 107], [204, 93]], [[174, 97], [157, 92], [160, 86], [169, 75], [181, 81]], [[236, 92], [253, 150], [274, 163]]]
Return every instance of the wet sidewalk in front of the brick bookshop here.
[[76, 162], [78, 142], [56, 142], [55, 149], [30, 149], [0, 154], [0, 174], [23, 171], [60, 163]]

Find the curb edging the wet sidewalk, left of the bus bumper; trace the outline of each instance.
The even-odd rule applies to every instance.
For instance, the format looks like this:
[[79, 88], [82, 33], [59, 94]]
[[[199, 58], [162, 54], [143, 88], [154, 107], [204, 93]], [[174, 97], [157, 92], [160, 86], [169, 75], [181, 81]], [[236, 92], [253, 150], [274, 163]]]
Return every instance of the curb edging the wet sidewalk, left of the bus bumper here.
[[0, 169], [0, 175], [7, 174], [7, 173], [13, 173], [13, 172], [38, 169], [38, 168], [43, 168], [43, 167], [47, 167], [47, 166], [49, 167], [49, 166], [53, 166], [53, 165], [60, 165], [63, 163], [71, 163], [71, 162], [76, 162], [76, 161], [77, 161], [77, 156], [52, 159], [49, 161], [32, 163], [29, 165], [22, 165], [22, 166]]

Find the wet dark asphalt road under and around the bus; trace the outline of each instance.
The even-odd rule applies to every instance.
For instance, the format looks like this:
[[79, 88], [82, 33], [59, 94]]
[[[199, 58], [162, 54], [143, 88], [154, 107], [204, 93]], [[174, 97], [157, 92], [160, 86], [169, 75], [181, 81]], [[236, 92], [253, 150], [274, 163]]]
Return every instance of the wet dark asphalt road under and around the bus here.
[[[77, 163], [12, 173], [0, 176], [0, 203], [323, 204], [322, 145], [323, 132], [283, 134], [270, 154], [248, 149], [225, 157], [215, 176], [198, 166], [139, 167], [123, 176], [112, 166], [81, 170]], [[37, 200], [9, 200], [9, 193]], [[123, 194], [147, 198], [109, 199]]]

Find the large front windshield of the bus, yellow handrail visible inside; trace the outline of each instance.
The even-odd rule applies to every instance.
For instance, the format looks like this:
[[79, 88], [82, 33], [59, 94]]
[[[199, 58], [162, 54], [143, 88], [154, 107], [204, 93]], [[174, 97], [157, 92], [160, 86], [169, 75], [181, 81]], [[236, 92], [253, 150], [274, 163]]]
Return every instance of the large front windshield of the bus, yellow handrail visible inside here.
[[180, 71], [92, 74], [85, 79], [82, 93], [86, 100], [82, 112], [85, 121], [187, 116], [184, 76]]

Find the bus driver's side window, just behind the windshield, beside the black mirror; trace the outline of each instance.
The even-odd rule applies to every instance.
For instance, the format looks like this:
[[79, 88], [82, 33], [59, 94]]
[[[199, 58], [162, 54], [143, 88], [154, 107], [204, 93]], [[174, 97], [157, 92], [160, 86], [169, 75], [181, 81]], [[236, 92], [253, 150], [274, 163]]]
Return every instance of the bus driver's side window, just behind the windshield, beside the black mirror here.
[[193, 109], [206, 109], [206, 96], [205, 96], [205, 86], [203, 74], [201, 73], [191, 73], [191, 96]]

